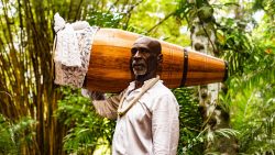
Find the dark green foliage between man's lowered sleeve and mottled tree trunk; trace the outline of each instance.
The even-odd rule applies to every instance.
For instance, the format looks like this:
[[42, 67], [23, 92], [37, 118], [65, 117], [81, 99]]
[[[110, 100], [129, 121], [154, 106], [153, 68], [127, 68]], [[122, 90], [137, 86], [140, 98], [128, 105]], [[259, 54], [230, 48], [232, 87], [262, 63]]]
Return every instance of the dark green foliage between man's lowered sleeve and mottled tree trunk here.
[[204, 152], [204, 134], [200, 134], [202, 120], [198, 110], [198, 99], [194, 88], [173, 90], [179, 103], [179, 145], [178, 154], [198, 155]]

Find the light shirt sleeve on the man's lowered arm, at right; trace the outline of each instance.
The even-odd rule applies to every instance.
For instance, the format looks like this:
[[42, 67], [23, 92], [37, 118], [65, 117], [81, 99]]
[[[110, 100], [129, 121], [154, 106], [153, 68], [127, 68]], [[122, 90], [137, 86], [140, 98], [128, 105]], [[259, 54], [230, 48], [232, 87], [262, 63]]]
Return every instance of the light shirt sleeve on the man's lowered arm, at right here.
[[154, 101], [152, 109], [153, 151], [155, 155], [176, 155], [179, 137], [178, 103], [173, 95]]

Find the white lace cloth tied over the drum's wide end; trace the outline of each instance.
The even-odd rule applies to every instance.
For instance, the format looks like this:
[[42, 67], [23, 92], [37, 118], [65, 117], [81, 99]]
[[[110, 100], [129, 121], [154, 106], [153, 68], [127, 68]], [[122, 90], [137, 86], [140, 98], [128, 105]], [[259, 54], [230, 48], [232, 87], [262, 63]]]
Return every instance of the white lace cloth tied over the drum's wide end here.
[[98, 27], [90, 26], [86, 21], [65, 23], [58, 13], [54, 19], [55, 84], [81, 88], [88, 71], [92, 41]]

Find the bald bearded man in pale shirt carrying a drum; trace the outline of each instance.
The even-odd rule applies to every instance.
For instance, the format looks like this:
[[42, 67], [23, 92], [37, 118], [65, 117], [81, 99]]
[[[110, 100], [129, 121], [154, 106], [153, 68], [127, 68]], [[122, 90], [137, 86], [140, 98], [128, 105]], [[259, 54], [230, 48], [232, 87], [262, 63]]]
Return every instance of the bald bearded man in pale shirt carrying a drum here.
[[[108, 99], [92, 92], [97, 112], [117, 119], [113, 155], [175, 155], [179, 122], [178, 103], [157, 76], [163, 55], [158, 41], [140, 37], [131, 49], [134, 81]], [[98, 96], [99, 95], [99, 96]]]

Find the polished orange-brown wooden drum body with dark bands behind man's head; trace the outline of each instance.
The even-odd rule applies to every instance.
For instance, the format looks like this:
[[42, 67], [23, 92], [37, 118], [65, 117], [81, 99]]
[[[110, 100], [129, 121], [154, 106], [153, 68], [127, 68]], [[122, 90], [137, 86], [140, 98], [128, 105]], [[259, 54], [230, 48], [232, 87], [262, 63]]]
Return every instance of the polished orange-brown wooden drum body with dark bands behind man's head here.
[[[130, 70], [131, 47], [141, 36], [117, 29], [99, 29], [91, 47], [86, 88], [119, 92], [133, 80]], [[227, 78], [224, 60], [160, 41], [163, 64], [161, 79], [168, 88], [206, 85]]]

